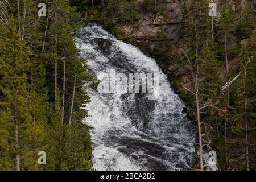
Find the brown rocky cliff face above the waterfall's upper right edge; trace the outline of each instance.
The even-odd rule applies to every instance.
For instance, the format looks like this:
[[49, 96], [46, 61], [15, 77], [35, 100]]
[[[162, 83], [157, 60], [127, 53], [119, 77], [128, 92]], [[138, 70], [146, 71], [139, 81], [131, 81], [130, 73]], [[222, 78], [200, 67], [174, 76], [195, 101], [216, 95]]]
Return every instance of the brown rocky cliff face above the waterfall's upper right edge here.
[[136, 44], [147, 52], [154, 50], [154, 41], [160, 23], [163, 25], [164, 32], [166, 32], [166, 40], [180, 45], [181, 2], [181, 0], [167, 0], [166, 11], [169, 13], [166, 15], [160, 13], [141, 14], [137, 24], [119, 24], [119, 26], [126, 31], [127, 35], [135, 38]]

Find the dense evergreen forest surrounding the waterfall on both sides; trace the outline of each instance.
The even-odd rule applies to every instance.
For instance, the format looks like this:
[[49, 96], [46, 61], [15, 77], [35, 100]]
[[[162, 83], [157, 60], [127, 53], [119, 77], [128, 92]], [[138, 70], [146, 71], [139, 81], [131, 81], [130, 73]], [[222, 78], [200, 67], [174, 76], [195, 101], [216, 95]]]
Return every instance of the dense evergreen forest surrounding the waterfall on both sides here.
[[[93, 169], [92, 127], [82, 120], [90, 102], [86, 86], [97, 84], [74, 39], [84, 19], [140, 47], [170, 77], [197, 129], [191, 170], [206, 169], [205, 151], [217, 152], [220, 170], [256, 170], [254, 1], [218, 1], [216, 17], [208, 15], [214, 1], [179, 1], [181, 43], [168, 39], [160, 22], [151, 51], [123, 25], [139, 28], [148, 13], [165, 18], [166, 0], [0, 2], [1, 170]], [[45, 17], [38, 16], [39, 3], [47, 5]], [[47, 165], [38, 165], [39, 151], [46, 151]]]

